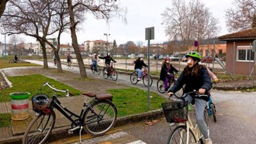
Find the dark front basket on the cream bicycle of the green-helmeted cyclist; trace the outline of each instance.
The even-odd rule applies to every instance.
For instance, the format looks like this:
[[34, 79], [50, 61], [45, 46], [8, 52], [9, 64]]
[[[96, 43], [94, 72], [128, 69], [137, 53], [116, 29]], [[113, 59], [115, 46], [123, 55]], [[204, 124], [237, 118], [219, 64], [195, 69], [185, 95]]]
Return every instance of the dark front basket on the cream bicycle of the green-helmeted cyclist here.
[[188, 101], [161, 103], [167, 122], [186, 122], [188, 120]]

